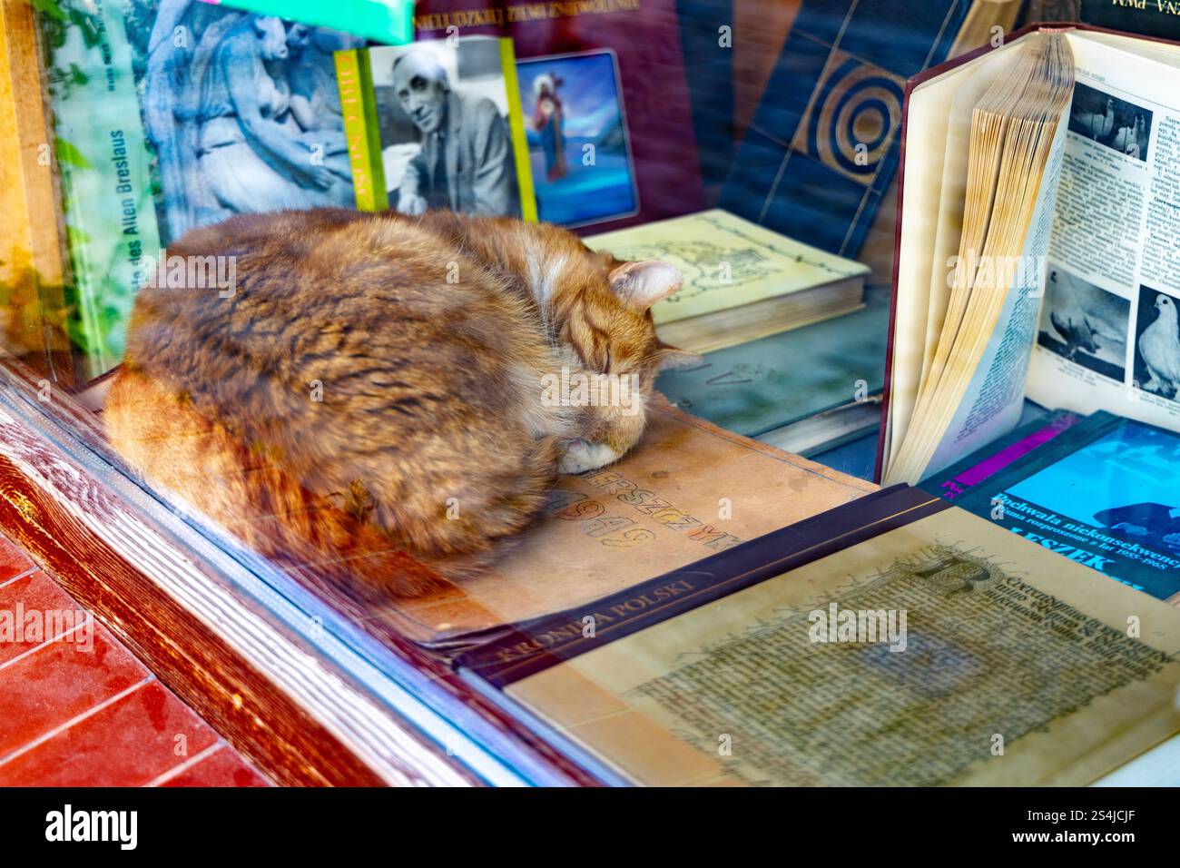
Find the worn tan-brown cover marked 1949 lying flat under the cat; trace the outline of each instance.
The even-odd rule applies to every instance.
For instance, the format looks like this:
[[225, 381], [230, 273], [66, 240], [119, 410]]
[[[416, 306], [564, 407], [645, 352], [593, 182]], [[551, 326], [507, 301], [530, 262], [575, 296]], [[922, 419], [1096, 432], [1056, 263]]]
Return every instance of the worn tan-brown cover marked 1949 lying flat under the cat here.
[[601, 470], [563, 476], [549, 514], [491, 570], [371, 613], [435, 646], [625, 590], [876, 487], [725, 431], [666, 402], [643, 439]]

